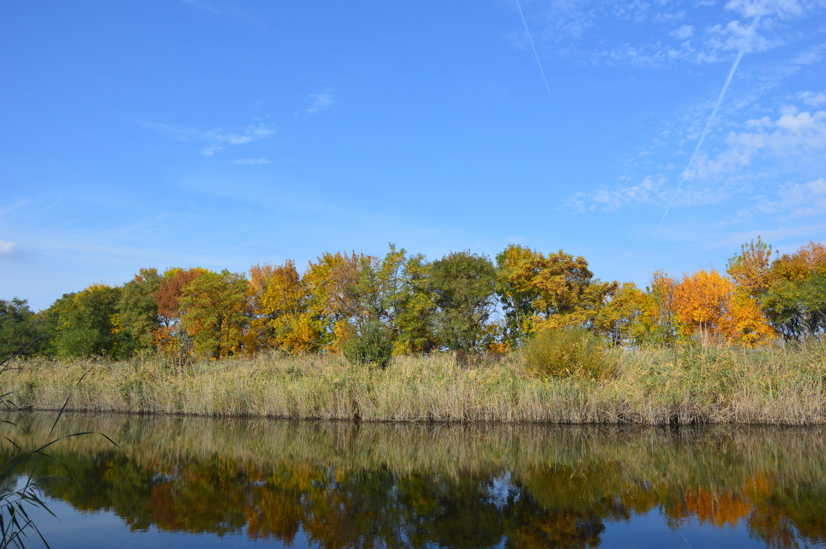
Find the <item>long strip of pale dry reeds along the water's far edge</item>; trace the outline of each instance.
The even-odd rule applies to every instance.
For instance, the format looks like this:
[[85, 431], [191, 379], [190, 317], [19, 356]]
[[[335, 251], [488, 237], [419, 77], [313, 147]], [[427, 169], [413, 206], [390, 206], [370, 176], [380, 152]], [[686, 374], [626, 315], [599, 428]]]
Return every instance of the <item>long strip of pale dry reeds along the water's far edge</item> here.
[[[795, 348], [612, 349], [600, 381], [532, 376], [517, 354], [452, 354], [385, 369], [261, 354], [178, 372], [155, 358], [30, 359], [3, 376], [17, 405], [150, 414], [415, 422], [824, 424], [826, 343]], [[84, 376], [85, 373], [85, 376]], [[78, 380], [83, 376], [83, 381]]]

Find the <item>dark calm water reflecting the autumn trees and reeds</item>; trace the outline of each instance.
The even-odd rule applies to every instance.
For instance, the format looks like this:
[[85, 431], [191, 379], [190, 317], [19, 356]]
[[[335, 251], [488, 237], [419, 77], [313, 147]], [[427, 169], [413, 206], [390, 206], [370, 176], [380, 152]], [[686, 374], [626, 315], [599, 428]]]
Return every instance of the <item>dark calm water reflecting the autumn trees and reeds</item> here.
[[[17, 443], [54, 414], [7, 416]], [[826, 429], [72, 414], [52, 547], [826, 547]], [[7, 449], [7, 447], [6, 447]], [[7, 480], [11, 482], [12, 480]]]

